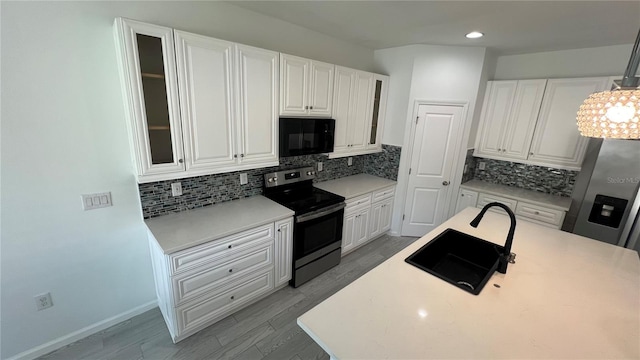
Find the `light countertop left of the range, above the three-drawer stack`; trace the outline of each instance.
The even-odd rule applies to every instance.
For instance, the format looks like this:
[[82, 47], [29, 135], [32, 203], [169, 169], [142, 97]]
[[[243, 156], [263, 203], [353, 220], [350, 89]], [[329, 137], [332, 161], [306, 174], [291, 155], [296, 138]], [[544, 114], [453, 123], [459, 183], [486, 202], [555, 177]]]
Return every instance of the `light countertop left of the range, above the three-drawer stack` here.
[[293, 216], [293, 211], [267, 199], [240, 200], [145, 220], [165, 254], [200, 245], [256, 226]]

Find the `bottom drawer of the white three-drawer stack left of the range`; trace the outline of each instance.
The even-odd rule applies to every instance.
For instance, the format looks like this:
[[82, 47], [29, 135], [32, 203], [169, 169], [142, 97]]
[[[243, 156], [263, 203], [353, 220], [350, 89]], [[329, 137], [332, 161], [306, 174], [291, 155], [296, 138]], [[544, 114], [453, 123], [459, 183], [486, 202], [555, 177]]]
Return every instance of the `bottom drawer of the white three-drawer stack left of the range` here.
[[176, 309], [178, 336], [193, 333], [227, 316], [274, 288], [273, 269], [245, 276], [204, 299], [196, 299]]

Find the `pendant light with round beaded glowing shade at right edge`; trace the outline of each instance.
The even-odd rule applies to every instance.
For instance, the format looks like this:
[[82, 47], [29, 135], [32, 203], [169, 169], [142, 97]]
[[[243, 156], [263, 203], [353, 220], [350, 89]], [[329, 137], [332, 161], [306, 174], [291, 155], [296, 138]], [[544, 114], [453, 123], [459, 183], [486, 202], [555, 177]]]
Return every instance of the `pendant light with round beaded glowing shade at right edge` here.
[[640, 78], [636, 76], [638, 63], [640, 31], [620, 87], [591, 94], [580, 106], [576, 120], [582, 136], [640, 139]]

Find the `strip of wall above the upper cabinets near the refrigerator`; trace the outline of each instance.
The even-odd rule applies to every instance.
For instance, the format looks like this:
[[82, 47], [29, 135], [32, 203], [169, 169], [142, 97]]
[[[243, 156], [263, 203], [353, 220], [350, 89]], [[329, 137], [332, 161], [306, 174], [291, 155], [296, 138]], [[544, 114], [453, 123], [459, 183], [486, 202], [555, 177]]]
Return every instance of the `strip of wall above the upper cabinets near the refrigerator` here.
[[494, 80], [622, 75], [633, 44], [499, 56]]

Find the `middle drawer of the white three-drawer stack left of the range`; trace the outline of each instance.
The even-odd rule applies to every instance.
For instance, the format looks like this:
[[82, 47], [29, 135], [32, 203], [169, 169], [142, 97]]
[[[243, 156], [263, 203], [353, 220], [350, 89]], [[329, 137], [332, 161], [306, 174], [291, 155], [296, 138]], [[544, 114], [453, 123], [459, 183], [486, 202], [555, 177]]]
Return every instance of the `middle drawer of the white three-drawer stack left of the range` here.
[[215, 266], [209, 265], [179, 274], [172, 279], [176, 305], [261, 267], [273, 267], [273, 242], [263, 240], [259, 247], [237, 252], [227, 261]]

